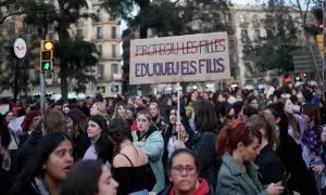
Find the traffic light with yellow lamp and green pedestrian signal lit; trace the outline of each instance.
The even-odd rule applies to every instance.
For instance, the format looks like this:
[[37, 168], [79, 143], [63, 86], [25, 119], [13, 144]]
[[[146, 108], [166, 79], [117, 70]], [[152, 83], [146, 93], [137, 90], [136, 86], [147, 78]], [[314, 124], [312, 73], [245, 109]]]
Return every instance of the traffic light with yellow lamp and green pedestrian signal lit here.
[[53, 68], [53, 41], [42, 40], [40, 44], [40, 70], [49, 72]]

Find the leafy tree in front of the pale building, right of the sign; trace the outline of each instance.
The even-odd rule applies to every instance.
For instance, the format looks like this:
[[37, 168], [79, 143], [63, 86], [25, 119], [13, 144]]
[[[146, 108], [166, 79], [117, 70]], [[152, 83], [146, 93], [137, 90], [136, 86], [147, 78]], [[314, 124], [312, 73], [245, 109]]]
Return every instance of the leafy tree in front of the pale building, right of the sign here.
[[261, 72], [276, 70], [288, 75], [293, 70], [293, 53], [302, 48], [298, 44], [299, 30], [291, 15], [293, 10], [283, 1], [269, 0], [266, 9], [266, 37], [254, 49], [254, 63]]

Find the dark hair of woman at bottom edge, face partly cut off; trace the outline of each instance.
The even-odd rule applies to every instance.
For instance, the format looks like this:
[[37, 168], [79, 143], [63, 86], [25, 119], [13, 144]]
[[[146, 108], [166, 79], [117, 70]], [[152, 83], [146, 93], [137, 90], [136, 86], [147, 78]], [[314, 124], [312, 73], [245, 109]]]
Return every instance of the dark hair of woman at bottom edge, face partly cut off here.
[[102, 166], [99, 160], [76, 162], [62, 183], [60, 195], [97, 194]]

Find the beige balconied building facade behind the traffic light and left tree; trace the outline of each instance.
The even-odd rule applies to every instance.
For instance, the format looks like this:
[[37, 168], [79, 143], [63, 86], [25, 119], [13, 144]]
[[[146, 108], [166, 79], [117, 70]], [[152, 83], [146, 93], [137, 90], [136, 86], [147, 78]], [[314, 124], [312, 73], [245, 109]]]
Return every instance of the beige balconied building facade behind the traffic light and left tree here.
[[[55, 3], [57, 1], [54, 1], [54, 5]], [[97, 92], [102, 93], [103, 96], [114, 96], [121, 94], [122, 91], [121, 20], [112, 17], [98, 0], [88, 0], [87, 3], [88, 9], [84, 9], [80, 12], [91, 13], [93, 17], [80, 18], [76, 24], [71, 25], [70, 29], [72, 38], [92, 42], [98, 50], [98, 64], [85, 69], [87, 75], [96, 78], [96, 82], [87, 83], [86, 93], [83, 96], [95, 96]], [[0, 31], [2, 36], [10, 38], [9, 29], [14, 28], [18, 31], [23, 26], [22, 17], [13, 16], [5, 21], [0, 27]], [[59, 40], [54, 29], [49, 30], [47, 39]], [[35, 64], [38, 64], [38, 62]], [[59, 72], [60, 69], [54, 66], [52, 72], [46, 73], [46, 92], [47, 94], [57, 94], [55, 99], [60, 98], [61, 94]], [[30, 69], [30, 77], [34, 78], [35, 82], [38, 82], [38, 66]], [[68, 80], [68, 98], [76, 98], [76, 94], [73, 92], [75, 84], [75, 80]], [[38, 95], [39, 92], [39, 86], [36, 84], [32, 88], [29, 95]], [[12, 92], [10, 91], [0, 93], [0, 96], [11, 95]]]

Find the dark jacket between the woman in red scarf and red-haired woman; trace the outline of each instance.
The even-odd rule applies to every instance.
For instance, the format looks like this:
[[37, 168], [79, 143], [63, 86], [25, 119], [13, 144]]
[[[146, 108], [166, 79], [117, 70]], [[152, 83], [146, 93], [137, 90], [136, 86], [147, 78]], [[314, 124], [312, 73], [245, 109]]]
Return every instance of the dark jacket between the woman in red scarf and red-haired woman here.
[[215, 140], [215, 132], [197, 133], [192, 139], [192, 150], [199, 162], [199, 176], [205, 179], [214, 188], [217, 181]]

